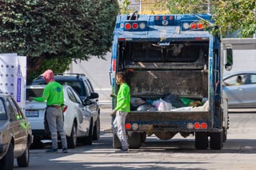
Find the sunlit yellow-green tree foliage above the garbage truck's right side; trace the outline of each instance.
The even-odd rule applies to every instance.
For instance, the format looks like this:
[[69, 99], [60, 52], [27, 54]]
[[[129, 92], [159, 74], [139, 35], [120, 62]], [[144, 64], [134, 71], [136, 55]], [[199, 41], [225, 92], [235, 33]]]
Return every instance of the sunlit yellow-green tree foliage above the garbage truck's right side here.
[[[166, 0], [157, 3], [161, 2]], [[169, 0], [166, 6], [170, 14], [208, 13], [210, 7], [224, 38], [237, 30], [242, 38], [250, 38], [256, 32], [255, 0]]]

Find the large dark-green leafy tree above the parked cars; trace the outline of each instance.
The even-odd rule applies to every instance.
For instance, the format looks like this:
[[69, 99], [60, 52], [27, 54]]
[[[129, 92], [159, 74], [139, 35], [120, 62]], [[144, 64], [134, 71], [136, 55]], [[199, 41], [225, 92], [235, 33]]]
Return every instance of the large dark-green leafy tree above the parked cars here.
[[117, 0], [2, 0], [0, 53], [27, 56], [29, 81], [72, 60], [104, 59], [118, 11]]

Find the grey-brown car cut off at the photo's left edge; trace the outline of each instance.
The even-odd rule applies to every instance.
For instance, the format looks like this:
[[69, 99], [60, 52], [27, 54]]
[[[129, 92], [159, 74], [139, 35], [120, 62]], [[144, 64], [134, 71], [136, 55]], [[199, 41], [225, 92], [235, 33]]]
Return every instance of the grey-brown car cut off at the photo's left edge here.
[[13, 169], [14, 158], [19, 167], [30, 162], [30, 144], [33, 142], [30, 121], [7, 94], [0, 94], [0, 168]]

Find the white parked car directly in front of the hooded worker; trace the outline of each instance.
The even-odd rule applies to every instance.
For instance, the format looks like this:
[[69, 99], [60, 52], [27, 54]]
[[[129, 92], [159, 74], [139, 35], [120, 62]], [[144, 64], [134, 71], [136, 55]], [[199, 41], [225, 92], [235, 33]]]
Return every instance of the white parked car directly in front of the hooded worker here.
[[[28, 85], [26, 87], [26, 98], [41, 97], [45, 85]], [[98, 125], [98, 113], [91, 109], [93, 101], [82, 99], [70, 85], [63, 85], [64, 90], [64, 131], [66, 132], [68, 148], [75, 148], [78, 140], [83, 144], [92, 144], [94, 127]], [[34, 135], [34, 144], [41, 140], [50, 139], [44, 126], [46, 103], [37, 101], [26, 101], [26, 117], [30, 120]], [[96, 128], [97, 129], [97, 128]]]

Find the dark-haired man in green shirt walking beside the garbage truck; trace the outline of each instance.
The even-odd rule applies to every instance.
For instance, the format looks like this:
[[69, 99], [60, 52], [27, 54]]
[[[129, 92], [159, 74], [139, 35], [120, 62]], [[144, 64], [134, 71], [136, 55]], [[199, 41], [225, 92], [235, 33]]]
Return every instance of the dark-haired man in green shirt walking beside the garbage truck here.
[[122, 148], [117, 152], [128, 152], [128, 143], [126, 136], [126, 116], [130, 112], [130, 87], [126, 83], [125, 73], [118, 72], [116, 74], [116, 83], [120, 85], [117, 95], [117, 106], [113, 109], [111, 115], [114, 116], [113, 128], [118, 139], [122, 144]]

